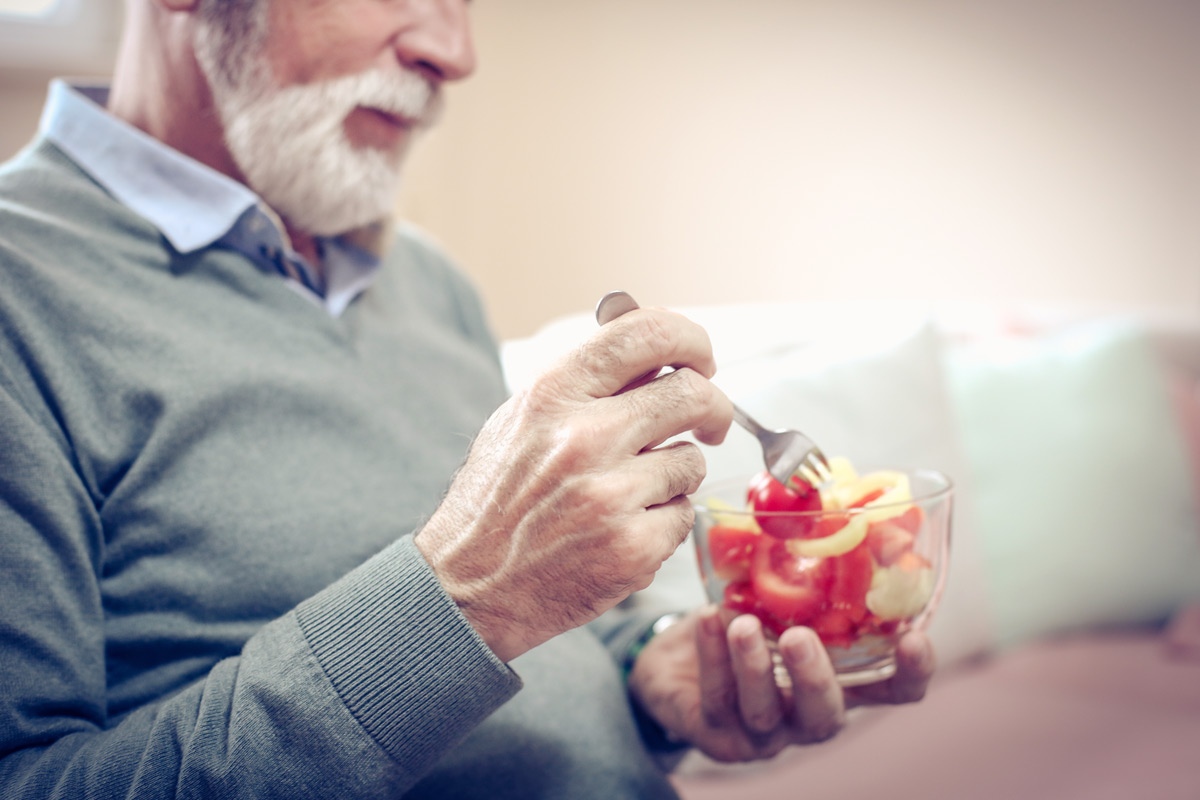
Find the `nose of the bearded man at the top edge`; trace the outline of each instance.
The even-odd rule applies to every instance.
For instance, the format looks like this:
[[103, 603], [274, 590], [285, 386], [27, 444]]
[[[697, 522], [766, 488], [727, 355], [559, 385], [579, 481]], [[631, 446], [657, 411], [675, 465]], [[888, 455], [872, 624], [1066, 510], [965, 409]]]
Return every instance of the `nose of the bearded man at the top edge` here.
[[461, 80], [475, 71], [467, 0], [410, 0], [410, 18], [396, 35], [404, 66], [434, 80]]

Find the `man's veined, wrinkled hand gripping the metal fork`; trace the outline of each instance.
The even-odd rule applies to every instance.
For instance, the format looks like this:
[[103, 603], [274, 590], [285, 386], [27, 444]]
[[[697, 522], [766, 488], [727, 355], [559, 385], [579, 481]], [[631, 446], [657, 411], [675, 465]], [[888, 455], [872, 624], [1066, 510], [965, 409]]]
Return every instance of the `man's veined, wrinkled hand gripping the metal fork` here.
[[[676, 369], [653, 378], [665, 366]], [[725, 438], [733, 411], [714, 372], [703, 329], [640, 309], [487, 421], [415, 541], [497, 656], [644, 589], [684, 541], [704, 459], [691, 443], [660, 445], [688, 431]]]

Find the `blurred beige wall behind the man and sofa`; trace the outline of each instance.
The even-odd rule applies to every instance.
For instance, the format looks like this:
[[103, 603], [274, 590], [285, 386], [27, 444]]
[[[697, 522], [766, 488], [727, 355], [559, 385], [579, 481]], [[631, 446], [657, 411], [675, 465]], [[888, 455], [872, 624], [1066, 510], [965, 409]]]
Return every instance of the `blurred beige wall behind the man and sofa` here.
[[[672, 306], [1200, 314], [1195, 0], [479, 0], [472, 14], [479, 72], [414, 151], [401, 211], [478, 281], [502, 336], [612, 288]], [[5, 155], [32, 132], [44, 78], [5, 66]]]

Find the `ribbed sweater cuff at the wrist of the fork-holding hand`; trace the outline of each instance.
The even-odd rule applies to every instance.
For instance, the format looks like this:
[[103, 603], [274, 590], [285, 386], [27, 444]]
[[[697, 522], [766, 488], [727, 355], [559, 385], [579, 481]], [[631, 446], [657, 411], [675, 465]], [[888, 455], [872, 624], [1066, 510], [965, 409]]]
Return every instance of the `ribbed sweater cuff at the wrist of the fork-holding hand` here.
[[354, 717], [418, 772], [521, 688], [410, 536], [301, 603], [296, 618]]

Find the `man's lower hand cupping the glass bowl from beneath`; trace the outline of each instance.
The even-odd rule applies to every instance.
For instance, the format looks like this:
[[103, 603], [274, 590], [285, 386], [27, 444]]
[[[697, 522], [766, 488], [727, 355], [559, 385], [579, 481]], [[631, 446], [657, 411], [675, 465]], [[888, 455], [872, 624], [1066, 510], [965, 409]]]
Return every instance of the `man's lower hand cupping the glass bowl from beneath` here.
[[630, 692], [668, 734], [716, 760], [746, 762], [829, 739], [856, 705], [919, 700], [934, 672], [923, 633], [900, 640], [890, 679], [846, 690], [811, 630], [785, 631], [779, 650], [791, 687], [776, 685], [756, 618], [744, 614], [726, 630], [718, 609], [704, 608], [650, 639]]

